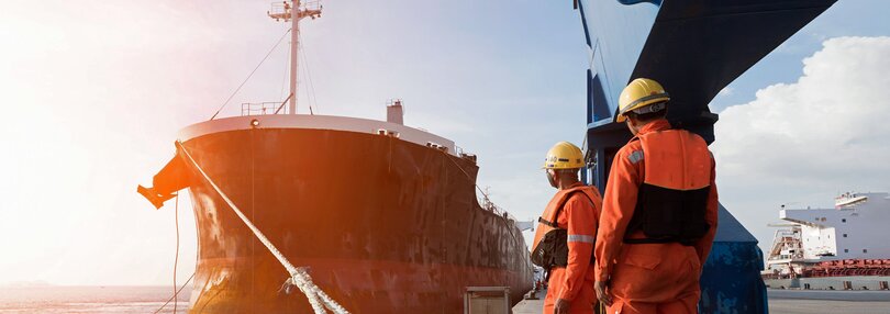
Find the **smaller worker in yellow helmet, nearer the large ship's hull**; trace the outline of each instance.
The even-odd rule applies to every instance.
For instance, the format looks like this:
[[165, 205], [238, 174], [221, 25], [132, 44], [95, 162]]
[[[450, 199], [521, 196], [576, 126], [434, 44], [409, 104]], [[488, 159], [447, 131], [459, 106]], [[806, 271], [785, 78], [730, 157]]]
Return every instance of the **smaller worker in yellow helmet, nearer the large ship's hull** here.
[[578, 180], [583, 154], [568, 142], [547, 153], [544, 169], [559, 191], [538, 220], [532, 259], [549, 277], [544, 314], [593, 313], [593, 243], [602, 197]]

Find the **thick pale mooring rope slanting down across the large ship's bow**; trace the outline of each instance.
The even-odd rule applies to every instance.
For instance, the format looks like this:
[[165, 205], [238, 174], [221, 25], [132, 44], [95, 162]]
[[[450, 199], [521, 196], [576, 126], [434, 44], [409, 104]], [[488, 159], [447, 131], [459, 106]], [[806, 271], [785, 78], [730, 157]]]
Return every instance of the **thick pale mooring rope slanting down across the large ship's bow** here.
[[[202, 169], [201, 166], [199, 166], [198, 162], [194, 161], [194, 158], [191, 157], [191, 154], [189, 154], [189, 150], [186, 148], [185, 145], [182, 145], [182, 142], [177, 141], [176, 145], [182, 149], [182, 153], [186, 155], [189, 161], [191, 161], [191, 165], [194, 166], [194, 169], [201, 173], [204, 180], [207, 180], [207, 182], [210, 183], [210, 187], [212, 187], [213, 190], [215, 190], [216, 193], [223, 199], [223, 201], [225, 201], [225, 203], [229, 204], [229, 208], [231, 208], [232, 211], [234, 211], [235, 214], [238, 217], [241, 217], [241, 221], [244, 222], [244, 224], [247, 225], [247, 227], [251, 228], [252, 232], [254, 232], [254, 236], [256, 236], [257, 239], [259, 239], [259, 242], [263, 243], [263, 245], [265, 245], [267, 249], [269, 249], [269, 251], [275, 256], [275, 258], [277, 258], [278, 261], [281, 262], [281, 266], [283, 266], [285, 269], [290, 274], [290, 278], [288, 278], [288, 280], [285, 281], [285, 285], [297, 285], [297, 288], [300, 289], [300, 292], [305, 294], [305, 298], [307, 300], [309, 300], [309, 304], [312, 305], [312, 310], [315, 311], [315, 314], [327, 313], [324, 310], [325, 307], [327, 307], [327, 310], [331, 310], [336, 314], [349, 313], [346, 311], [346, 309], [343, 309], [343, 306], [341, 306], [336, 301], [331, 299], [331, 296], [324, 293], [324, 291], [322, 291], [318, 285], [315, 285], [315, 283], [312, 282], [312, 277], [310, 277], [309, 273], [305, 272], [305, 268], [303, 267], [297, 268], [292, 263], [290, 263], [287, 257], [285, 257], [285, 255], [281, 254], [281, 251], [278, 250], [278, 248], [276, 248], [275, 245], [272, 245], [272, 243], [263, 234], [263, 232], [260, 232], [259, 228], [257, 228], [251, 222], [251, 220], [248, 220], [247, 216], [244, 215], [244, 213], [242, 213], [241, 210], [238, 210], [238, 206], [235, 205], [235, 203], [232, 202], [231, 199], [229, 199], [229, 197], [220, 189], [220, 187], [218, 187], [216, 183], [214, 183], [213, 180], [210, 179], [207, 172], [204, 172], [204, 169]], [[286, 289], [286, 291], [289, 291], [289, 289]]]

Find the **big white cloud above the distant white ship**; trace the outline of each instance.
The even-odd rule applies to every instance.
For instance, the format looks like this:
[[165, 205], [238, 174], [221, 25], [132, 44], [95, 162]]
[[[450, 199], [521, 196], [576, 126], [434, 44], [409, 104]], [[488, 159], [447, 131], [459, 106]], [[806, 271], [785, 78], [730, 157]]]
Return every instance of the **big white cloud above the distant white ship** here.
[[721, 200], [766, 247], [781, 203], [890, 191], [890, 37], [837, 37], [715, 125]]

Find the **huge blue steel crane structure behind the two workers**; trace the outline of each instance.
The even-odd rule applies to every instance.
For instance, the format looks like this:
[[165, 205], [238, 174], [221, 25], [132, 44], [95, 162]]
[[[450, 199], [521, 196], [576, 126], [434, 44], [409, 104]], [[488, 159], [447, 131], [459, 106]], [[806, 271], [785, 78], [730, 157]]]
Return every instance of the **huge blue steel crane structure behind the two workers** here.
[[[618, 97], [638, 77], [670, 92], [668, 120], [712, 143], [711, 100], [836, 0], [577, 0], [590, 51], [585, 179], [605, 187], [630, 138], [613, 123]], [[701, 278], [701, 313], [767, 313], [757, 239], [721, 206]]]

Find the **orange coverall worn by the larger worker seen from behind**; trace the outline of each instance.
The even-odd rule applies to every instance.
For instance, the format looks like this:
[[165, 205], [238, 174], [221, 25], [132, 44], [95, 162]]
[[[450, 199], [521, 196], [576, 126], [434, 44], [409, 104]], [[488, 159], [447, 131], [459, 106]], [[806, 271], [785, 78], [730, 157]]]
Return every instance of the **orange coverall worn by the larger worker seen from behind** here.
[[[717, 223], [717, 191], [714, 183], [715, 172], [712, 156], [707, 156], [704, 161], [710, 160], [711, 165], [690, 166], [702, 171], [708, 171], [710, 168], [710, 192], [704, 211], [704, 220], [710, 228], [698, 243], [692, 246], [683, 246], [679, 243], [632, 245], [623, 243], [627, 224], [634, 215], [639, 186], [646, 178], [645, 159], [648, 157], [645, 156], [643, 144], [638, 138], [650, 132], [667, 130], [670, 130], [667, 120], [658, 120], [645, 125], [637, 136], [618, 152], [612, 161], [596, 246], [596, 280], [609, 282], [607, 291], [612, 294], [613, 303], [609, 306], [608, 313], [698, 312], [701, 294], [699, 277], [701, 267], [711, 250]], [[647, 145], [653, 147], [652, 145], [683, 144], [678, 142], [647, 143]], [[707, 150], [707, 146], [703, 149]], [[689, 155], [689, 152], [683, 152], [679, 156]], [[702, 167], [708, 168], [702, 169]], [[683, 170], [687, 172], [683, 173]], [[668, 171], [668, 175], [659, 173], [658, 177], [669, 178], [669, 180], [683, 180], [676, 178], [691, 176], [687, 167], [650, 169], [650, 171]], [[645, 238], [642, 231], [626, 236]]]

